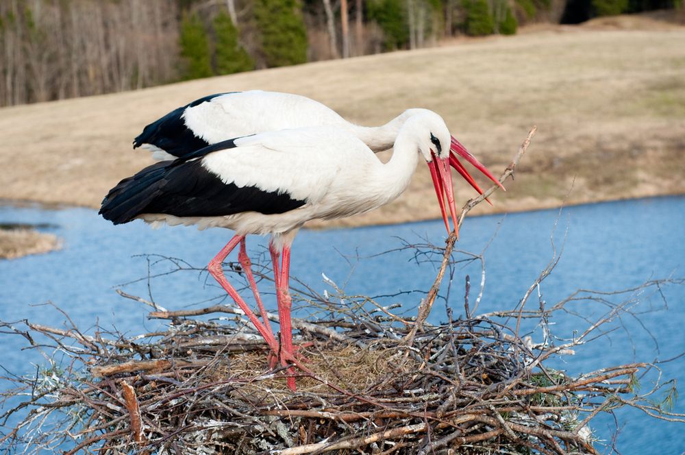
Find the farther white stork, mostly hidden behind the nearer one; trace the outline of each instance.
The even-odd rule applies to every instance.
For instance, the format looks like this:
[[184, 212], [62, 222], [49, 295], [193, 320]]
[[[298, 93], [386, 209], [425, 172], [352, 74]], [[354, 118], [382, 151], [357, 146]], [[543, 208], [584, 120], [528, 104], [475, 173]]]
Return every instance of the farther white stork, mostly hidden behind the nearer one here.
[[[365, 127], [350, 123], [319, 101], [301, 95], [264, 90], [217, 93], [196, 99], [150, 123], [135, 138], [134, 148], [152, 151], [155, 160], [175, 160], [223, 140], [288, 128], [330, 125], [350, 132], [371, 150], [379, 152], [393, 147], [399, 128], [417, 112], [421, 110], [408, 109], [385, 125]], [[505, 189], [454, 136], [451, 149], [451, 166], [479, 194], [483, 191], [457, 155]]]

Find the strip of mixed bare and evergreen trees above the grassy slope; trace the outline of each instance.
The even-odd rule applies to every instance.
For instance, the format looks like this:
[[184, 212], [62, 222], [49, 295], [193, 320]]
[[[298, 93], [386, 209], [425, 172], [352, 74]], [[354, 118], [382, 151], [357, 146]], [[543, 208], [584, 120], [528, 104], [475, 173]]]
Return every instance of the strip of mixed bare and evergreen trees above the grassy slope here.
[[514, 34], [682, 0], [3, 0], [0, 106]]

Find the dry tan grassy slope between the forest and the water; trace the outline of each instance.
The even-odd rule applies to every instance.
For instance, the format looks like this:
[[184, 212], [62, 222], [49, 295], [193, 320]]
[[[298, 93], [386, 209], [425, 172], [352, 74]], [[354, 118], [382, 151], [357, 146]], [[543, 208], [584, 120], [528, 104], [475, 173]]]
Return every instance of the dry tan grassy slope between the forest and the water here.
[[[685, 193], [685, 27], [631, 21], [3, 108], [0, 198], [98, 207], [152, 162], [131, 149], [143, 126], [198, 97], [250, 88], [306, 95], [364, 125], [435, 110], [495, 173], [537, 125], [508, 193], [479, 213]], [[421, 166], [393, 204], [343, 223], [438, 217], [429, 180]], [[458, 185], [462, 203], [474, 195]]]

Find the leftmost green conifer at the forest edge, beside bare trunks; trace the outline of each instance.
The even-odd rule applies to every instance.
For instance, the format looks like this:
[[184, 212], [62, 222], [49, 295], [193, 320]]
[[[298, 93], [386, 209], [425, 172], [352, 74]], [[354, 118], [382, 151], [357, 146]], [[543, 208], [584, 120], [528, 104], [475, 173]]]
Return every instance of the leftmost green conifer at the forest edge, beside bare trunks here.
[[179, 44], [181, 57], [184, 60], [183, 79], [197, 79], [212, 75], [210, 44], [205, 27], [197, 14], [184, 16]]

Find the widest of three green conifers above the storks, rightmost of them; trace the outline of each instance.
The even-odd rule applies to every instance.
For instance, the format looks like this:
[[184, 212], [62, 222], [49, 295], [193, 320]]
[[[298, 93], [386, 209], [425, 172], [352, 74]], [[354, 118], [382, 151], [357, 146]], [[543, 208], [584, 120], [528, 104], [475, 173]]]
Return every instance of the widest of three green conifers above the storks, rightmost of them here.
[[254, 14], [266, 66], [307, 61], [307, 30], [299, 0], [256, 0]]

